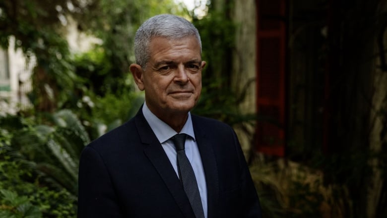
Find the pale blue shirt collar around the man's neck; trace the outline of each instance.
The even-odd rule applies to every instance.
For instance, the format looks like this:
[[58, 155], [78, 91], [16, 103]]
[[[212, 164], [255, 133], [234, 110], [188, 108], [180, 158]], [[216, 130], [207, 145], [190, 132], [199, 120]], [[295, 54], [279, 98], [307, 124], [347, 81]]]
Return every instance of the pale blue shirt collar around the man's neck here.
[[[154, 115], [152, 111], [150, 111], [150, 109], [146, 106], [146, 102], [144, 102], [144, 105], [142, 106], [142, 113], [144, 114], [146, 121], [148, 122], [150, 128], [152, 129], [161, 144], [170, 139], [172, 136], [178, 134], [167, 123], [165, 123], [156, 115]], [[190, 112], [188, 112], [187, 121], [184, 124], [180, 133], [185, 133], [191, 136], [192, 139], [195, 141], [194, 126], [192, 125]]]

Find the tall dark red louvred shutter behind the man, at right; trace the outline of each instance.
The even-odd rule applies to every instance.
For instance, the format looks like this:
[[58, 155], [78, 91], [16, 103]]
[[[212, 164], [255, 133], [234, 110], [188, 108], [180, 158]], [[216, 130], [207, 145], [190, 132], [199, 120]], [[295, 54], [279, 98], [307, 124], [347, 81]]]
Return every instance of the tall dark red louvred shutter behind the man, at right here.
[[285, 0], [257, 0], [258, 152], [285, 153]]

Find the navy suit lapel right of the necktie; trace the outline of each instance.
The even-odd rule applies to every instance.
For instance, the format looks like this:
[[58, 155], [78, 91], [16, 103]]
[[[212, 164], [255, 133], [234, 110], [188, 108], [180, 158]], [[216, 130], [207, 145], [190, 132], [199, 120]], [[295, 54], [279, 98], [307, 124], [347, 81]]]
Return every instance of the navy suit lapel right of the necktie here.
[[219, 180], [218, 170], [216, 167], [215, 153], [213, 143], [210, 137], [206, 136], [203, 125], [197, 116], [192, 116], [194, 133], [199, 147], [201, 162], [204, 168], [205, 180], [207, 183], [207, 206], [208, 218], [217, 217], [218, 200], [219, 200]]

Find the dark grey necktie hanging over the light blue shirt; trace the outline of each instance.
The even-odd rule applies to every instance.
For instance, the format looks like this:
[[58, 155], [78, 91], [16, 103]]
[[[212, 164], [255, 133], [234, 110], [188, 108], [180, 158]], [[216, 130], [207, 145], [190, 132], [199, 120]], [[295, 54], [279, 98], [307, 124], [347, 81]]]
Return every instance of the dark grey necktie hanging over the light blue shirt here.
[[204, 218], [203, 206], [201, 205], [201, 198], [199, 189], [197, 188], [195, 173], [186, 156], [186, 151], [184, 150], [186, 137], [187, 135], [184, 133], [176, 134], [172, 137], [172, 141], [176, 147], [179, 178], [180, 181], [182, 181], [184, 190], [190, 200], [195, 217]]

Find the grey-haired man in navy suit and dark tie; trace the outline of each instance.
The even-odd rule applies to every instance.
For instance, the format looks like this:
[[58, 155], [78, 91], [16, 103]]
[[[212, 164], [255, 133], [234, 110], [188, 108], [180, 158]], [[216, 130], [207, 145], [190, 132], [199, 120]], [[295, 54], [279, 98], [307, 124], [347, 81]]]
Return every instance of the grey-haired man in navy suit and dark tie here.
[[134, 50], [130, 71], [145, 103], [82, 152], [78, 217], [260, 217], [233, 129], [190, 113], [206, 64], [194, 25], [154, 16], [137, 30]]

